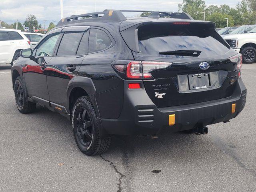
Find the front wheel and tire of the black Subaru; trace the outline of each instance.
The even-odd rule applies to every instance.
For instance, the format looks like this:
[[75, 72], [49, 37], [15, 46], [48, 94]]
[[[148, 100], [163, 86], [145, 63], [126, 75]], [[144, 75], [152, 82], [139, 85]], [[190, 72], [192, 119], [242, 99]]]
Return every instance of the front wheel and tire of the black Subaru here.
[[20, 76], [18, 76], [14, 83], [14, 95], [16, 106], [21, 113], [32, 113], [36, 109], [36, 103], [28, 101], [25, 84]]

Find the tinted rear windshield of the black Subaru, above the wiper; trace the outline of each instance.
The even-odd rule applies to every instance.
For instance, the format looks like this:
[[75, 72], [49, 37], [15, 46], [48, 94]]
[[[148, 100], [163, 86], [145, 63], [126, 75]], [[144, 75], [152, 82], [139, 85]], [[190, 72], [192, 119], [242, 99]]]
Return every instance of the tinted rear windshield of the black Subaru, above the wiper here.
[[[142, 54], [159, 55], [160, 52], [198, 50], [200, 57], [220, 55], [230, 48], [211, 36], [208, 25], [152, 24], [138, 29], [138, 44]], [[169, 55], [159, 55], [169, 56]]]

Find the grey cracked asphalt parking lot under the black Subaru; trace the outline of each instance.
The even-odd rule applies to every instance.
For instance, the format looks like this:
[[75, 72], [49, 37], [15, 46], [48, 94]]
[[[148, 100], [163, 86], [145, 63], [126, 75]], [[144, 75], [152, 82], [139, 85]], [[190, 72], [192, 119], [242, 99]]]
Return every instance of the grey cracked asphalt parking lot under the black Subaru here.
[[18, 112], [10, 65], [0, 65], [0, 191], [256, 191], [256, 64], [244, 64], [243, 112], [207, 135], [114, 137], [102, 156], [82, 154], [70, 122], [38, 106]]

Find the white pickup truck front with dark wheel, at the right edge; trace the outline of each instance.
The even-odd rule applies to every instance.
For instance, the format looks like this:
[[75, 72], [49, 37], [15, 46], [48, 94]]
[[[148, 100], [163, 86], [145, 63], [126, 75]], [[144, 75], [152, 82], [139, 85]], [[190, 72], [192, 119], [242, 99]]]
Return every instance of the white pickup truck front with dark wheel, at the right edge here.
[[231, 48], [243, 55], [244, 63], [256, 62], [256, 28], [245, 34], [224, 36]]

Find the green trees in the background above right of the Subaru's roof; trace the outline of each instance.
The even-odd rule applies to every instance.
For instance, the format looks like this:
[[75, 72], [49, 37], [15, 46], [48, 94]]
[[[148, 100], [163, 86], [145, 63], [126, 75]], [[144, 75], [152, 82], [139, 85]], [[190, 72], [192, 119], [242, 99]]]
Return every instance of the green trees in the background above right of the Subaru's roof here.
[[228, 18], [228, 26], [241, 26], [256, 24], [256, 0], [241, 0], [236, 4], [235, 8], [223, 4], [220, 6], [206, 6], [204, 0], [183, 0], [178, 4], [179, 12], [186, 12], [195, 20], [205, 20], [216, 23], [216, 28], [226, 27], [226, 19]]

